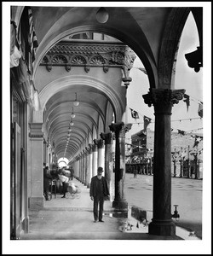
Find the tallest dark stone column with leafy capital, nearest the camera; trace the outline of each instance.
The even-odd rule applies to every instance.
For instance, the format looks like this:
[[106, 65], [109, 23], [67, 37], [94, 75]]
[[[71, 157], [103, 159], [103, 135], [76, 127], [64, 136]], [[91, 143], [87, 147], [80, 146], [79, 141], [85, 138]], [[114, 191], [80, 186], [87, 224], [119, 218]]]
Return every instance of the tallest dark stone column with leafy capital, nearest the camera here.
[[185, 90], [152, 89], [144, 95], [149, 107], [154, 107], [154, 160], [153, 160], [153, 219], [149, 234], [172, 236], [176, 225], [171, 219], [171, 138], [170, 115], [173, 104], [183, 98]]

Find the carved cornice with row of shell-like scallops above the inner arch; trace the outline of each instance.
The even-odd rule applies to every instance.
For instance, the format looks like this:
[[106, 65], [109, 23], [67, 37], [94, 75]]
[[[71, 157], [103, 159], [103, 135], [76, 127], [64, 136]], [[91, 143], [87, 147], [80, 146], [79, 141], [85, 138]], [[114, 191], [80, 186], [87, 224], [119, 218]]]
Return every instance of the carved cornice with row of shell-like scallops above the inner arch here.
[[134, 51], [124, 44], [60, 42], [49, 49], [40, 66], [46, 66], [49, 72], [52, 66], [64, 66], [67, 72], [80, 66], [86, 73], [89, 67], [103, 67], [104, 73], [109, 67], [121, 67], [124, 77], [129, 78], [135, 58]]

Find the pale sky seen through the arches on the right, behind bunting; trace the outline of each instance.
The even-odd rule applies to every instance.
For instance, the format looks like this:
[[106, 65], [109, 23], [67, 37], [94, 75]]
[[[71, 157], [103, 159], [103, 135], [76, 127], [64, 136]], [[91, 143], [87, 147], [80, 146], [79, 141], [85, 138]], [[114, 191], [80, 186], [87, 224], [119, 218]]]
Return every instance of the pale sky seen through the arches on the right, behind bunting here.
[[[193, 130], [193, 132], [203, 133], [203, 119], [200, 119], [198, 114], [199, 101], [203, 102], [203, 67], [200, 68], [199, 73], [195, 73], [193, 68], [187, 66], [187, 60], [185, 59], [185, 54], [196, 50], [198, 46], [199, 35], [195, 21], [193, 20], [193, 15], [191, 14], [188, 16], [187, 23], [181, 34], [176, 61], [175, 79], [175, 89], [186, 90], [185, 93], [190, 96], [190, 106], [188, 111], [186, 102], [180, 101], [173, 106], [171, 128], [174, 132], [179, 129], [181, 131], [192, 132]], [[148, 128], [154, 131], [153, 106], [149, 108], [147, 104], [144, 103], [142, 97], [142, 95], [147, 94], [149, 90], [149, 81], [147, 75], [135, 67], [143, 67], [138, 57], [135, 59], [133, 68], [130, 70], [132, 82], [127, 90], [127, 122], [134, 123], [131, 130], [126, 134], [127, 138], [130, 138], [132, 134], [143, 129], [143, 124], [139, 125], [138, 123], [143, 123], [144, 115], [152, 119], [152, 123], [148, 125]], [[133, 119], [131, 117], [130, 108], [139, 113], [139, 119]], [[199, 130], [194, 131], [195, 129]]]

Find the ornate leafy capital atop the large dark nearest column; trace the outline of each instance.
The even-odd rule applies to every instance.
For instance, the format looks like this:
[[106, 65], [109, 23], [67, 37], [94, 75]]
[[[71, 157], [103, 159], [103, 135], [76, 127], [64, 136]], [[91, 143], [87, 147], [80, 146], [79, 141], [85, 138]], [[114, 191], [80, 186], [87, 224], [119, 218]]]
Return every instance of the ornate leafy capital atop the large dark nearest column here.
[[174, 104], [183, 99], [186, 90], [169, 90], [152, 88], [146, 95], [143, 95], [144, 102], [151, 107], [152, 104], [155, 113], [168, 113]]

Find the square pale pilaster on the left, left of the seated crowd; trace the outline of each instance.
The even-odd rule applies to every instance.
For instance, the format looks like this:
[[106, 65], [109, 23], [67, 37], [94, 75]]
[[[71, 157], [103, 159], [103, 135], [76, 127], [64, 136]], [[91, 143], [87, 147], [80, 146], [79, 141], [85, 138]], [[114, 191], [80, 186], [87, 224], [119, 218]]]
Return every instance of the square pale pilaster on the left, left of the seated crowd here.
[[31, 123], [31, 197], [29, 208], [43, 208], [43, 123]]

